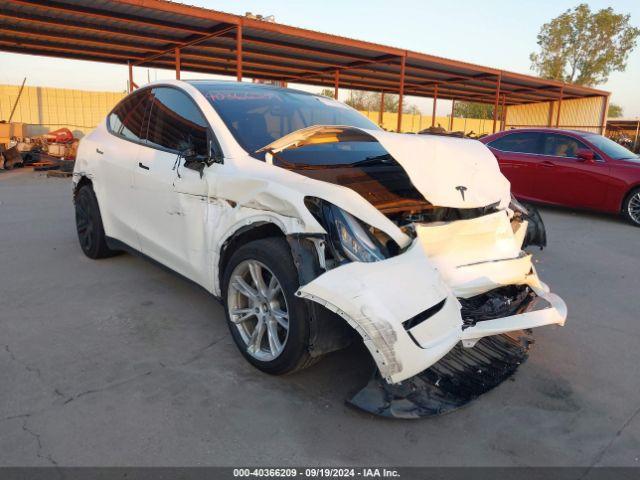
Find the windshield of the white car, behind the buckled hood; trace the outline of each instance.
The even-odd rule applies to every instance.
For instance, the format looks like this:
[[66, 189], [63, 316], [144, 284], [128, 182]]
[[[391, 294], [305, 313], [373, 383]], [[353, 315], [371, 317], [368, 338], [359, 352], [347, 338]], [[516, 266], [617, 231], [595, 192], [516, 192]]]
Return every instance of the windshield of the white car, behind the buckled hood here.
[[313, 125], [378, 127], [356, 110], [320, 95], [242, 83], [193, 82], [250, 155], [288, 133]]

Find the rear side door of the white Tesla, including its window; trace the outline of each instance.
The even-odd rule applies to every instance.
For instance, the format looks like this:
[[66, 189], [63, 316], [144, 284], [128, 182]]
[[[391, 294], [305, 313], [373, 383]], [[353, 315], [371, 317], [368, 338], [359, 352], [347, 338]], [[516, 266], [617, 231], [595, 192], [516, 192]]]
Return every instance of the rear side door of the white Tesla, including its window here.
[[120, 102], [87, 139], [95, 157], [94, 190], [105, 233], [139, 250], [134, 174], [150, 102], [150, 89], [140, 90]]

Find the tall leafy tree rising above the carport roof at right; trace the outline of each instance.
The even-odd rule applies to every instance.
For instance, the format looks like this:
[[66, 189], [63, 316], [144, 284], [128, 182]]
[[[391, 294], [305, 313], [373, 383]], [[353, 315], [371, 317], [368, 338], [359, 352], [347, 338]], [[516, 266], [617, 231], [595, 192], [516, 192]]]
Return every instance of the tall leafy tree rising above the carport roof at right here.
[[640, 29], [630, 15], [613, 8], [592, 12], [585, 3], [545, 23], [538, 34], [540, 52], [530, 55], [531, 68], [544, 78], [579, 85], [598, 85], [611, 72], [623, 72]]

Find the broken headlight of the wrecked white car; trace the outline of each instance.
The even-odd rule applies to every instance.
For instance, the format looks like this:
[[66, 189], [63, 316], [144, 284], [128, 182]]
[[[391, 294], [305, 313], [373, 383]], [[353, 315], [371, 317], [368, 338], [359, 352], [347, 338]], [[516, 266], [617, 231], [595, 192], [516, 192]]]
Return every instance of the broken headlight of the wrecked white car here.
[[331, 253], [338, 262], [377, 262], [396, 250], [395, 242], [386, 233], [332, 203], [307, 197], [305, 204], [327, 231]]

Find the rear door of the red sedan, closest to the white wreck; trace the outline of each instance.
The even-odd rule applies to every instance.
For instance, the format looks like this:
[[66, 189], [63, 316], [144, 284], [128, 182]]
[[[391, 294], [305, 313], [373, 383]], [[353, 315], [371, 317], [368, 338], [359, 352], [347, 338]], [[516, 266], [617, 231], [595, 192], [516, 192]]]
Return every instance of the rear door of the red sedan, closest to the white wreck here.
[[517, 198], [538, 199], [535, 174], [541, 140], [542, 134], [538, 132], [516, 131], [487, 145], [498, 159], [503, 175], [511, 183], [511, 193]]

